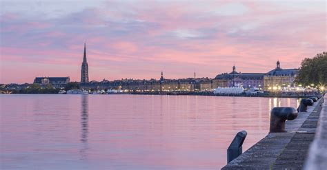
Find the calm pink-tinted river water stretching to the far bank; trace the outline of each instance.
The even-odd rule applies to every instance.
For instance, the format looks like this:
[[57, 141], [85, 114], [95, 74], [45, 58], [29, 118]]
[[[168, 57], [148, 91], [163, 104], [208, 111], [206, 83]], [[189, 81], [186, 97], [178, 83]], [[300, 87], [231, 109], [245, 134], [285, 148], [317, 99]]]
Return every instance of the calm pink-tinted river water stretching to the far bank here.
[[219, 169], [293, 98], [0, 95], [1, 169]]

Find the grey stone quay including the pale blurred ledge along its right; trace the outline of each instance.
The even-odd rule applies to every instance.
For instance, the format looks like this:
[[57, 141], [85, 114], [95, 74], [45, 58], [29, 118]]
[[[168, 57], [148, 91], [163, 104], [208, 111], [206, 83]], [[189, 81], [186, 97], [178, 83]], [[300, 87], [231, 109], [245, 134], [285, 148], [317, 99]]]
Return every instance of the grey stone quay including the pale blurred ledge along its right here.
[[324, 100], [327, 95], [309, 106], [307, 112], [299, 112], [295, 120], [286, 121], [287, 132], [268, 134], [222, 169], [324, 169], [327, 166]]

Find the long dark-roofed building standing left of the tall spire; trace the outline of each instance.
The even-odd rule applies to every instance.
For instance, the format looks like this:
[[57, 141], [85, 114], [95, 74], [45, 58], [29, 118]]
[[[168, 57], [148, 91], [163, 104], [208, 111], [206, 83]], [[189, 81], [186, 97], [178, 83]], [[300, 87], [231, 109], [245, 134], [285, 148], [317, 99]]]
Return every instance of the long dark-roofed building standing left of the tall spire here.
[[67, 77], [36, 77], [34, 83], [41, 85], [52, 85], [55, 88], [66, 87], [67, 83], [70, 82], [69, 76]]

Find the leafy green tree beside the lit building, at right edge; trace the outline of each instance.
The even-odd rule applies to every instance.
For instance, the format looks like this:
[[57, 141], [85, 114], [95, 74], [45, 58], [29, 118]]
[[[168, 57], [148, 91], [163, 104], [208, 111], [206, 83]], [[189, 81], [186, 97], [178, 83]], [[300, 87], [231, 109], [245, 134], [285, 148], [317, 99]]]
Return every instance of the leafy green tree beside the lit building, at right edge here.
[[306, 58], [301, 62], [301, 68], [296, 80], [297, 83], [308, 86], [317, 85], [326, 87], [327, 85], [327, 52], [317, 54], [312, 59]]

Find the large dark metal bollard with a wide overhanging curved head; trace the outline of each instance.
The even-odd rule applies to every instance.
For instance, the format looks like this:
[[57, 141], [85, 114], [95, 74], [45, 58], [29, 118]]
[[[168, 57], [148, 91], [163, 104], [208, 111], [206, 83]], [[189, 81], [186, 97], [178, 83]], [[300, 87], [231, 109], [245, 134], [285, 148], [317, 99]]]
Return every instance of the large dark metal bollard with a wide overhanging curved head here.
[[297, 118], [297, 110], [294, 107], [274, 107], [270, 111], [270, 130], [273, 132], [286, 132], [285, 121]]

